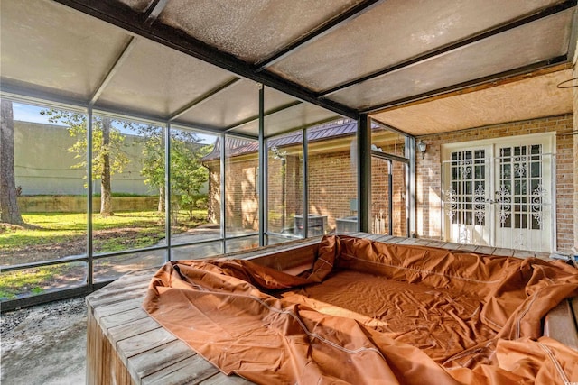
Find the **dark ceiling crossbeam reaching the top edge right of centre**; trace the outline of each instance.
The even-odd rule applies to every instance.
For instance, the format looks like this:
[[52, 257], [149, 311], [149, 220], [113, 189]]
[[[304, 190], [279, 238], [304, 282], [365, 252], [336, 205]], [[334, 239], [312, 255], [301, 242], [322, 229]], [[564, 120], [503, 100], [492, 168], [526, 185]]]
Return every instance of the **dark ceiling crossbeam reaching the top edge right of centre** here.
[[333, 19], [329, 20], [327, 23], [320, 25], [311, 32], [306, 33], [301, 38], [296, 41], [291, 42], [280, 50], [277, 50], [273, 55], [268, 58], [256, 62], [256, 72], [261, 72], [269, 66], [274, 65], [279, 60], [283, 60], [287, 55], [291, 54], [294, 50], [306, 47], [313, 41], [320, 39], [322, 36], [335, 31], [337, 28], [342, 27], [346, 23], [358, 18], [360, 15], [367, 13], [369, 10], [373, 9], [379, 3], [383, 3], [384, 0], [366, 0], [358, 5], [351, 7], [349, 10], [343, 14], [338, 14]]

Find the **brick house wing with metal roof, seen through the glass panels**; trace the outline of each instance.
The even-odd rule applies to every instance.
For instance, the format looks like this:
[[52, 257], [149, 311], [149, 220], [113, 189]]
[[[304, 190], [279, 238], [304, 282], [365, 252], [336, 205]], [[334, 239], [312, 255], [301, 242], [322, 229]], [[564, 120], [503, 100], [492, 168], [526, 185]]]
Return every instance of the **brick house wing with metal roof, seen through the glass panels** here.
[[[357, 215], [356, 160], [351, 160], [356, 142], [357, 124], [345, 121], [326, 124], [308, 130], [309, 214], [325, 215], [324, 232], [338, 229], [338, 221]], [[374, 143], [385, 152], [399, 155], [398, 135], [376, 130]], [[303, 146], [301, 131], [282, 135], [268, 143], [284, 154], [283, 160], [268, 157], [268, 231], [294, 233], [294, 216], [303, 214]], [[256, 142], [234, 140], [227, 145], [227, 229], [258, 230], [257, 146]], [[353, 146], [354, 147], [354, 146]], [[402, 146], [403, 147], [403, 146]], [[402, 149], [403, 151], [403, 149]], [[210, 219], [220, 221], [220, 144], [204, 159], [210, 170]], [[394, 163], [394, 228], [393, 234], [406, 235], [406, 176], [402, 164]], [[384, 160], [372, 160], [372, 218], [374, 232], [388, 233], [388, 165]]]

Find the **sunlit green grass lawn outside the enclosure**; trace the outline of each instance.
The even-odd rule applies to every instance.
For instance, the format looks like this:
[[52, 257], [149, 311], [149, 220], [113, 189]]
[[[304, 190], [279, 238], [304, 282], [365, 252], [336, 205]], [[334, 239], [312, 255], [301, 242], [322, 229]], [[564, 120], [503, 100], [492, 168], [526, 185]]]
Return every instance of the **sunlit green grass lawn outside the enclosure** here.
[[[26, 226], [0, 224], [0, 265], [49, 261], [70, 255], [86, 255], [87, 215], [76, 213], [23, 214]], [[179, 215], [173, 233], [206, 223], [207, 210], [193, 212], [193, 220]], [[153, 246], [164, 239], [164, 218], [156, 211], [118, 212], [92, 216], [94, 252], [118, 252]], [[63, 263], [0, 274], [0, 299], [20, 294], [39, 294], [46, 289], [84, 280], [84, 263]], [[79, 277], [76, 277], [79, 276]], [[75, 277], [79, 280], [75, 280]], [[82, 282], [80, 282], [82, 283]]]

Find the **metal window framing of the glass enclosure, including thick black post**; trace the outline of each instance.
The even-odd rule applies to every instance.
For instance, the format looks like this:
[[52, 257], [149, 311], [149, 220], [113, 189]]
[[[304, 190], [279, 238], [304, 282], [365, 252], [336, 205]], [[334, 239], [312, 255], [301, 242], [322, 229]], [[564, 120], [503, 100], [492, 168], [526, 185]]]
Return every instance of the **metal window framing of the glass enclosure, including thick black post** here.
[[[118, 61], [118, 60], [117, 60]], [[106, 78], [103, 80], [103, 83], [106, 82]], [[93, 292], [96, 289], [101, 288], [109, 281], [101, 282], [101, 281], [94, 281], [93, 275], [93, 268], [94, 268], [94, 261], [98, 261], [104, 258], [110, 258], [114, 256], [122, 256], [126, 254], [131, 254], [134, 252], [149, 252], [149, 251], [159, 251], [163, 250], [165, 252], [165, 261], [172, 261], [172, 249], [173, 248], [180, 248], [183, 246], [188, 245], [201, 245], [206, 243], [214, 243], [220, 242], [222, 247], [221, 251], [223, 253], [227, 252], [227, 242], [230, 240], [237, 240], [241, 238], [246, 238], [250, 236], [255, 236], [256, 234], [259, 235], [259, 244], [264, 245], [266, 244], [266, 137], [265, 137], [265, 117], [266, 113], [264, 111], [265, 105], [265, 96], [263, 92], [263, 96], [260, 96], [259, 105], [259, 124], [260, 124], [260, 137], [259, 137], [259, 144], [261, 145], [260, 155], [259, 155], [259, 166], [263, 167], [264, 172], [260, 173], [259, 177], [259, 192], [260, 192], [260, 205], [259, 205], [259, 218], [260, 218], [260, 225], [259, 225], [259, 232], [255, 234], [242, 234], [239, 236], [234, 237], [227, 237], [226, 232], [226, 209], [225, 209], [225, 180], [226, 180], [226, 146], [225, 142], [228, 137], [240, 137], [240, 138], [247, 138], [251, 140], [255, 140], [256, 138], [252, 135], [245, 135], [242, 133], [232, 133], [232, 132], [223, 132], [222, 130], [215, 129], [212, 127], [202, 127], [197, 124], [185, 124], [181, 122], [176, 122], [171, 117], [157, 117], [152, 115], [143, 115], [143, 114], [131, 114], [130, 112], [118, 112], [113, 109], [106, 109], [106, 108], [94, 108], [93, 101], [94, 97], [91, 97], [89, 102], [79, 102], [76, 100], [61, 100], [60, 98], [51, 98], [46, 97], [46, 95], [42, 95], [43, 97], [39, 97], [35, 92], [28, 93], [25, 89], [15, 89], [9, 88], [8, 90], [3, 89], [1, 92], [3, 97], [11, 99], [16, 102], [21, 102], [25, 104], [31, 105], [39, 105], [39, 106], [52, 106], [55, 108], [67, 109], [70, 111], [82, 112], [87, 115], [87, 119], [89, 122], [89, 126], [92, 126], [93, 117], [95, 114], [98, 115], [107, 115], [114, 117], [116, 119], [126, 119], [126, 120], [135, 120], [144, 123], [155, 124], [160, 127], [163, 127], [163, 134], [164, 134], [164, 151], [165, 151], [165, 215], [167, 218], [170, 218], [170, 210], [171, 210], [171, 130], [172, 128], [182, 128], [192, 130], [197, 133], [207, 133], [211, 135], [219, 136], [219, 140], [222, 142], [222, 151], [220, 153], [220, 197], [221, 197], [221, 205], [220, 205], [220, 236], [219, 238], [207, 240], [207, 241], [193, 241], [190, 243], [179, 243], [178, 245], [173, 245], [171, 243], [171, 227], [170, 227], [170, 219], [166, 221], [165, 224], [165, 237], [166, 243], [162, 246], [153, 246], [143, 249], [131, 249], [131, 250], [124, 250], [122, 252], [105, 252], [101, 254], [95, 254], [93, 252], [93, 223], [92, 223], [92, 171], [91, 171], [91, 163], [92, 163], [92, 130], [87, 131], [87, 142], [88, 142], [88, 149], [87, 149], [87, 172], [88, 172], [88, 184], [89, 184], [89, 191], [88, 191], [88, 202], [87, 202], [87, 252], [85, 255], [81, 256], [73, 256], [68, 258], [63, 258], [61, 260], [51, 260], [51, 261], [40, 261], [40, 262], [33, 262], [33, 263], [25, 263], [19, 265], [12, 265], [12, 266], [2, 266], [0, 267], [1, 272], [9, 272], [15, 270], [23, 270], [23, 269], [31, 269], [37, 268], [42, 266], [50, 266], [55, 264], [61, 263], [71, 263], [77, 261], [85, 261], [87, 263], [87, 282], [85, 285], [80, 285], [79, 287], [75, 287], [72, 289], [62, 289], [62, 290], [55, 290], [50, 291], [44, 294], [36, 295], [36, 296], [27, 296], [23, 298], [11, 299], [2, 302], [2, 311], [11, 310], [17, 307], [23, 306], [32, 306], [35, 304], [50, 302], [53, 300], [58, 300], [62, 298], [70, 298], [72, 296], [78, 295], [87, 295]], [[97, 93], [93, 94], [96, 96]], [[210, 97], [210, 96], [209, 96]], [[275, 113], [275, 112], [272, 112]], [[334, 119], [331, 119], [334, 120]], [[358, 120], [358, 135], [357, 135], [357, 142], [359, 146], [358, 151], [358, 202], [359, 202], [359, 229], [361, 231], [367, 231], [369, 228], [369, 215], [368, 209], [370, 208], [370, 188], [371, 188], [371, 167], [370, 167], [370, 158], [371, 158], [371, 133], [370, 133], [370, 125], [371, 119], [368, 115], [362, 115]], [[318, 122], [316, 124], [326, 123]], [[307, 129], [312, 125], [316, 124], [307, 124], [296, 128], [296, 130], [301, 130], [303, 136], [303, 216], [308, 217], [309, 215], [309, 173], [308, 173], [308, 142], [307, 142]], [[390, 128], [390, 127], [387, 127]], [[294, 130], [288, 130], [294, 131]], [[282, 133], [279, 133], [282, 134]], [[272, 135], [277, 136], [277, 134]], [[409, 139], [412, 140], [412, 139]], [[407, 146], [406, 146], [407, 151]], [[410, 164], [413, 163], [413, 160], [410, 158]], [[411, 171], [410, 171], [411, 173]], [[411, 196], [410, 196], [411, 197]], [[365, 224], [365, 225], [363, 225]], [[308, 229], [308, 221], [303, 222], [303, 236], [307, 237], [309, 233]]]

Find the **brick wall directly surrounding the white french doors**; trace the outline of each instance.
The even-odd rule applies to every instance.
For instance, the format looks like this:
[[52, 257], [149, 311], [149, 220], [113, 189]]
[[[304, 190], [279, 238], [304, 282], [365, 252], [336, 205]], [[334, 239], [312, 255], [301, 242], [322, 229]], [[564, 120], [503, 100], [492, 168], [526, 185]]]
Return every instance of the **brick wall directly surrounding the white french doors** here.
[[[424, 160], [416, 157], [417, 234], [440, 238], [441, 228], [441, 145], [482, 139], [513, 137], [531, 133], [564, 133], [573, 130], [573, 115], [551, 116], [508, 124], [419, 137], [427, 143]], [[576, 149], [572, 135], [556, 135], [556, 245], [555, 249], [568, 252], [574, 239], [574, 172]]]

